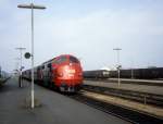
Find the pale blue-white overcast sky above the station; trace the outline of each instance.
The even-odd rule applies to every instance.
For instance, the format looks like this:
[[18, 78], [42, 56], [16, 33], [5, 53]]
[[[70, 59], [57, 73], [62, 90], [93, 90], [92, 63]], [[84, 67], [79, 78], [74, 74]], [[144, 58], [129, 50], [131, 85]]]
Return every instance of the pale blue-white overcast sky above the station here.
[[[35, 65], [63, 53], [84, 70], [114, 66], [122, 48], [123, 67], [163, 66], [163, 0], [34, 0]], [[30, 0], [0, 0], [0, 65], [14, 70], [17, 47], [30, 51]], [[30, 60], [23, 60], [26, 69]]]

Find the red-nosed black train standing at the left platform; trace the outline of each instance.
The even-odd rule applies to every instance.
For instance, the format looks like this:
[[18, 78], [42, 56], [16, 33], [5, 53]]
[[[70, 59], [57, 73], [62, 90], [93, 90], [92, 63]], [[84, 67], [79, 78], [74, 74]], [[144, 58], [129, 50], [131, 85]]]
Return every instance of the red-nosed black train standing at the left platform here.
[[[32, 70], [24, 71], [22, 75], [32, 79]], [[83, 67], [76, 57], [61, 54], [34, 67], [34, 80], [62, 92], [77, 92], [83, 86]]]

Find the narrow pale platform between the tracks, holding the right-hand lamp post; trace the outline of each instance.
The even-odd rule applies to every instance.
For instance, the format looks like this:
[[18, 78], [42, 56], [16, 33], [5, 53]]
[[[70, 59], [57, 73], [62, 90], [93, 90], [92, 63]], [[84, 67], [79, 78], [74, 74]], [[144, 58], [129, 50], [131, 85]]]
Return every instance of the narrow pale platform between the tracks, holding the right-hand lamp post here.
[[[137, 80], [138, 82], [138, 80]], [[160, 80], [162, 82], [162, 80]], [[154, 85], [139, 85], [139, 84], [131, 84], [131, 83], [121, 83], [118, 86], [117, 79], [116, 82], [108, 80], [85, 80], [84, 84], [99, 86], [99, 87], [109, 87], [114, 89], [123, 89], [123, 90], [131, 90], [131, 91], [139, 91], [139, 92], [147, 92], [153, 95], [161, 95], [163, 96], [163, 87], [162, 86], [154, 86]]]

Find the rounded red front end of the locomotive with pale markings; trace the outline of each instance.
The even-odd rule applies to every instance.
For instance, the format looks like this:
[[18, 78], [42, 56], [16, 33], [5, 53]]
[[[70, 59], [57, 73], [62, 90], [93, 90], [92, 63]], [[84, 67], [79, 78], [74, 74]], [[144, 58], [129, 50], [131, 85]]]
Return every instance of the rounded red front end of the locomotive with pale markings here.
[[55, 84], [61, 91], [76, 92], [83, 85], [83, 70], [80, 62], [72, 55], [55, 70]]

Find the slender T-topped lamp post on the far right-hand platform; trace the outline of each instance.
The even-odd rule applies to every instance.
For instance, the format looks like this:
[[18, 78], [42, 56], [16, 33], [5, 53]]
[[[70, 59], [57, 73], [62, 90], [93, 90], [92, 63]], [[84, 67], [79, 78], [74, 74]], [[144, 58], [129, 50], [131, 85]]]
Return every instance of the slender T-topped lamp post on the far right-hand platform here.
[[121, 84], [121, 80], [120, 80], [120, 69], [121, 69], [121, 65], [120, 65], [120, 50], [122, 50], [121, 48], [114, 48], [113, 50], [116, 50], [117, 52], [117, 84], [118, 84], [118, 87], [120, 87], [120, 84]]

